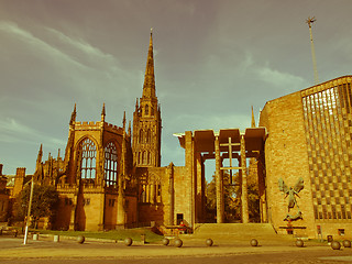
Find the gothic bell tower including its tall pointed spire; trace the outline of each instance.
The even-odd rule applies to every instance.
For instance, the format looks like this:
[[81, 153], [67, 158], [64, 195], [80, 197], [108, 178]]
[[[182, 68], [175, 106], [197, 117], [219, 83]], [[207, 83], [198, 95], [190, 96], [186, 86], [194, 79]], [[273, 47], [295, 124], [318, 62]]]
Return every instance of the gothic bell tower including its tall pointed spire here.
[[162, 118], [155, 95], [153, 33], [147, 53], [143, 95], [133, 113], [133, 161], [136, 167], [161, 166]]

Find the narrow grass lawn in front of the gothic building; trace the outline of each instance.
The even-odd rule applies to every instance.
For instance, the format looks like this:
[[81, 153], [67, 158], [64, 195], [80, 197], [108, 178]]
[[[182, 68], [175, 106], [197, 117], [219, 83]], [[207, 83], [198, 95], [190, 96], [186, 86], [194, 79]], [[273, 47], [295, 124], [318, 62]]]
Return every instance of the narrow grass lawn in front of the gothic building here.
[[145, 234], [146, 243], [161, 241], [163, 239], [163, 235], [158, 235], [147, 228], [110, 230], [106, 232], [57, 231], [57, 230], [37, 230], [37, 229], [31, 229], [30, 231], [38, 232], [42, 234], [58, 234], [58, 235], [66, 235], [66, 237], [84, 235], [86, 238], [111, 239], [111, 240], [124, 240], [125, 238], [131, 238], [134, 241], [141, 241], [141, 235]]

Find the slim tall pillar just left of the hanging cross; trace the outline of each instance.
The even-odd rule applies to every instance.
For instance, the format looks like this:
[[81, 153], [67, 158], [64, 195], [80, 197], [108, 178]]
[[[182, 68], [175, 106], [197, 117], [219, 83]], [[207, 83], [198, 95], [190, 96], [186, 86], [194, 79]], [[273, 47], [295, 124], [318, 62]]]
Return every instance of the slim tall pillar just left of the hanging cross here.
[[216, 136], [216, 190], [217, 190], [217, 223], [223, 223], [223, 182], [221, 174], [221, 157], [219, 136]]

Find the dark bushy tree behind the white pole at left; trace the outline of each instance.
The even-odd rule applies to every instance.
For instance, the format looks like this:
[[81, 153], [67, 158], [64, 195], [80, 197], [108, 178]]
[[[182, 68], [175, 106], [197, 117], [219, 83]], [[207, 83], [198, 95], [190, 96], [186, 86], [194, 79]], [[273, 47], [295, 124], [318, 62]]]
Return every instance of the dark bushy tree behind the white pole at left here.
[[[18, 197], [18, 215], [24, 219], [29, 209], [31, 186], [28, 185], [23, 188]], [[34, 185], [33, 200], [32, 200], [32, 224], [37, 228], [37, 222], [43, 217], [52, 219], [55, 215], [58, 205], [58, 193], [55, 186], [41, 186]]]

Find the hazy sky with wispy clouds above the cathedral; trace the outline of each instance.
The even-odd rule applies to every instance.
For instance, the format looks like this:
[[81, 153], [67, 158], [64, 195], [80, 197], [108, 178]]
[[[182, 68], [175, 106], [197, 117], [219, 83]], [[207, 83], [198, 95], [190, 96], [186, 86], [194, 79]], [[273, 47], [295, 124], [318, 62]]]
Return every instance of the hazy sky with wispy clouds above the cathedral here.
[[174, 133], [251, 125], [265, 102], [351, 75], [352, 1], [0, 0], [0, 163], [33, 174], [40, 145], [65, 153], [68, 122], [132, 120], [153, 28], [162, 166]]

